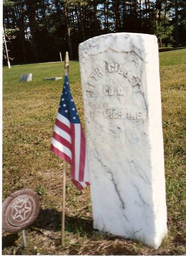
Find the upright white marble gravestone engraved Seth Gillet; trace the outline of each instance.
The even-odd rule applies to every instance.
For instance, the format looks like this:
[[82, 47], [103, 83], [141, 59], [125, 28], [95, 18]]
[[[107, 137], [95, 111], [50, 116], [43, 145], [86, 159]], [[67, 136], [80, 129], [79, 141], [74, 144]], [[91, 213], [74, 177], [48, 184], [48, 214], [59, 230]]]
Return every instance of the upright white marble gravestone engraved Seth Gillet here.
[[101, 35], [79, 57], [93, 226], [158, 248], [167, 216], [157, 39]]

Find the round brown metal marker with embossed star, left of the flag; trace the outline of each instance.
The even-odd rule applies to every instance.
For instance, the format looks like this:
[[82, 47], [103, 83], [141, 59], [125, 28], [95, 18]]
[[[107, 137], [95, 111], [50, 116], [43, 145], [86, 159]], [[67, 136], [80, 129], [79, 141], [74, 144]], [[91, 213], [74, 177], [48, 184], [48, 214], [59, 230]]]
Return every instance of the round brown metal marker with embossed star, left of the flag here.
[[17, 191], [2, 203], [2, 228], [11, 233], [26, 229], [40, 212], [40, 198], [33, 189]]

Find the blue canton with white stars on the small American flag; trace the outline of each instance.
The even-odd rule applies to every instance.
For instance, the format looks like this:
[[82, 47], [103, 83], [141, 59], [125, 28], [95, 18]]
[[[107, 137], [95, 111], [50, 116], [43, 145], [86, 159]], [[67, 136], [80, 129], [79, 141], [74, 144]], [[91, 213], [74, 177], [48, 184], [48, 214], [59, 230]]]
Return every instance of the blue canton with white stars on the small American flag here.
[[80, 123], [80, 119], [73, 102], [73, 97], [70, 92], [68, 77], [65, 76], [63, 91], [61, 94], [60, 106], [58, 112], [64, 115], [71, 123]]

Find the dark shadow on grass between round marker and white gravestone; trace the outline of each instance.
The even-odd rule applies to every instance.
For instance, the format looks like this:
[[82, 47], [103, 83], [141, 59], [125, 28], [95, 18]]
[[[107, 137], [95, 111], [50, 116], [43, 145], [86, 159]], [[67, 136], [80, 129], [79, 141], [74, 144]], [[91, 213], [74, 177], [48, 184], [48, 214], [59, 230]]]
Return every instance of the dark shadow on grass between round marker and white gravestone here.
[[[37, 220], [33, 224], [36, 229], [61, 230], [61, 212], [55, 209], [41, 209]], [[74, 234], [93, 234], [93, 220], [83, 216], [65, 216], [65, 230]]]

